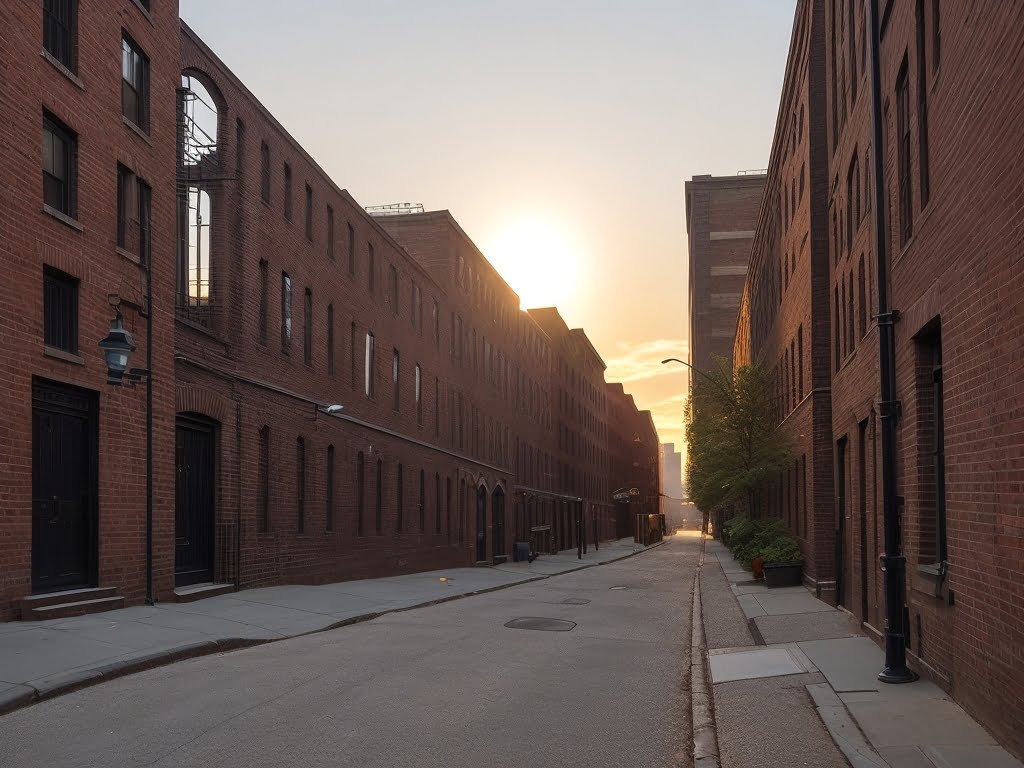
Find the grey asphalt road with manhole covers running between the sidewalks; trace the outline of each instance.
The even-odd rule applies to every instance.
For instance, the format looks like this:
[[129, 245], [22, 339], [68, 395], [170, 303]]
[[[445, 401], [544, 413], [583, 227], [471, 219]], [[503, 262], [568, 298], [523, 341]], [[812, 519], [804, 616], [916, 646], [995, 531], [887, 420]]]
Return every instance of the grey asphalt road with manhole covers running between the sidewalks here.
[[0, 768], [687, 766], [698, 548], [86, 688], [0, 717]]

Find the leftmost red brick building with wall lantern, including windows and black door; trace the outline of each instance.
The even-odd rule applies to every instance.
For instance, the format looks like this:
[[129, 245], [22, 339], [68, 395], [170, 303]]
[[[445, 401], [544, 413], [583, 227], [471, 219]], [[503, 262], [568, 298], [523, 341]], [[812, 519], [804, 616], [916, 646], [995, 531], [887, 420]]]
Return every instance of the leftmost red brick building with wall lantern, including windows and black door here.
[[0, 9], [0, 620], [34, 594], [145, 594], [145, 385], [109, 385], [97, 346], [119, 300], [131, 365], [151, 309], [160, 350], [154, 575], [172, 585], [178, 17], [147, 5]]

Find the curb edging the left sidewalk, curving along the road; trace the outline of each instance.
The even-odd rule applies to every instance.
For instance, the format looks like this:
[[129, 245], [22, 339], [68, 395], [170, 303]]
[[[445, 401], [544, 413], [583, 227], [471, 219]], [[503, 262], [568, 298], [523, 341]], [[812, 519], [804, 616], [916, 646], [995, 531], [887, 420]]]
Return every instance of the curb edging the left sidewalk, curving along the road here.
[[343, 627], [349, 627], [354, 624], [362, 624], [364, 622], [371, 622], [374, 618], [379, 618], [380, 616], [387, 615], [388, 613], [401, 613], [407, 610], [416, 610], [418, 608], [427, 608], [432, 605], [440, 605], [441, 603], [452, 602], [453, 600], [461, 600], [464, 597], [473, 597], [474, 595], [484, 595], [488, 592], [498, 592], [499, 590], [510, 589], [512, 587], [519, 587], [524, 584], [531, 584], [534, 582], [543, 582], [547, 579], [552, 579], [554, 577], [565, 575], [566, 573], [574, 573], [579, 570], [586, 570], [587, 568], [593, 568], [598, 565], [608, 565], [620, 560], [625, 560], [629, 557], [635, 557], [636, 555], [642, 555], [645, 552], [649, 552], [655, 547], [659, 547], [665, 544], [664, 541], [652, 544], [649, 547], [637, 550], [635, 552], [630, 552], [629, 554], [623, 555], [622, 557], [614, 557], [610, 560], [602, 560], [600, 562], [587, 563], [585, 565], [578, 565], [566, 570], [560, 570], [557, 573], [544, 573], [542, 575], [530, 577], [529, 579], [524, 579], [519, 582], [510, 582], [509, 584], [500, 584], [495, 587], [485, 587], [484, 589], [474, 590], [473, 592], [462, 592], [457, 595], [449, 595], [446, 597], [437, 598], [436, 600], [427, 600], [426, 602], [416, 603], [415, 605], [407, 605], [400, 608], [391, 608], [389, 610], [374, 611], [371, 613], [361, 613], [356, 616], [349, 616], [348, 618], [343, 618], [340, 622], [335, 622], [334, 624], [323, 627], [318, 630], [310, 630], [309, 632], [300, 632], [295, 635], [288, 635], [285, 637], [273, 638], [273, 639], [259, 639], [254, 640], [252, 638], [221, 638], [218, 640], [199, 640], [197, 642], [186, 643], [184, 645], [177, 645], [171, 647], [164, 647], [158, 649], [150, 649], [145, 651], [140, 651], [137, 653], [127, 654], [118, 659], [106, 662], [96, 667], [86, 667], [79, 668], [77, 670], [71, 670], [68, 672], [59, 672], [41, 680], [37, 680], [33, 683], [17, 683], [13, 684], [10, 688], [0, 691], [0, 716], [6, 715], [15, 710], [20, 710], [25, 707], [30, 707], [39, 701], [44, 701], [48, 698], [55, 698], [56, 696], [62, 695], [65, 693], [71, 693], [80, 688], [87, 688], [91, 685], [97, 683], [108, 682], [119, 677], [126, 677], [127, 675], [133, 675], [137, 672], [144, 672], [146, 670], [156, 669], [157, 667], [164, 667], [166, 665], [174, 664], [175, 662], [183, 662], [187, 658], [198, 658], [200, 656], [208, 656], [214, 653], [227, 653], [234, 650], [242, 650], [245, 648], [252, 648], [257, 645], [265, 645], [267, 643], [276, 643], [282, 640], [291, 640], [296, 637], [306, 637], [308, 635], [316, 635], [322, 632], [330, 632], [332, 630], [341, 629]]

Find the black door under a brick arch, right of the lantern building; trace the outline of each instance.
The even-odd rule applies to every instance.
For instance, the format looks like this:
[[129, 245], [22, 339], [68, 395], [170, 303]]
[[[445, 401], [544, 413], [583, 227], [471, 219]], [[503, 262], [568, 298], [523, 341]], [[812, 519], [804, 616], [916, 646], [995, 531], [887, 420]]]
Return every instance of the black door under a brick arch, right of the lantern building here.
[[178, 417], [175, 456], [174, 584], [213, 581], [216, 425]]

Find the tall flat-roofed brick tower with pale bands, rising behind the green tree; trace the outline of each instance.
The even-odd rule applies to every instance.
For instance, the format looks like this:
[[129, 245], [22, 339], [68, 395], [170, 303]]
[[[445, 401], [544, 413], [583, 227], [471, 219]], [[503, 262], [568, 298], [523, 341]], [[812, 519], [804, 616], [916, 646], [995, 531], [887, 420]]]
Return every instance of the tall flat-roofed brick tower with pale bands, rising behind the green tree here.
[[732, 360], [743, 280], [766, 176], [694, 176], [686, 182], [689, 362], [708, 370]]

